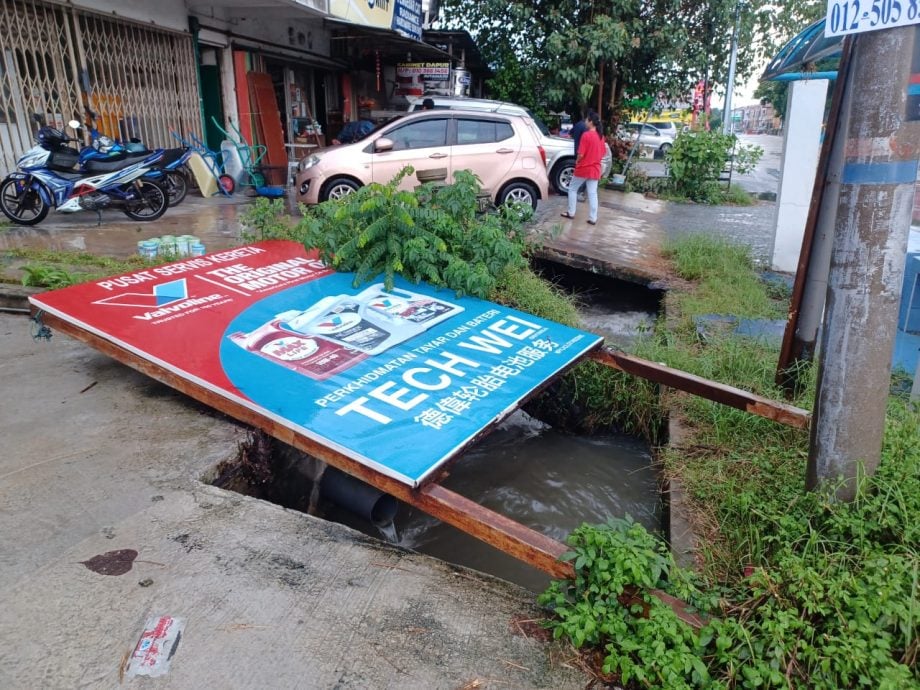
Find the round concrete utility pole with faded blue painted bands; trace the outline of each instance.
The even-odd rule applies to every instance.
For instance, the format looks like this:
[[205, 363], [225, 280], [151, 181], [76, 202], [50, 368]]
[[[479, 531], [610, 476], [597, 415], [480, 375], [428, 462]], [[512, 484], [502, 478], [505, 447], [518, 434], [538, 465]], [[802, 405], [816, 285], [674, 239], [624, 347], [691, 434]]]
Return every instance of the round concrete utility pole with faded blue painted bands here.
[[[856, 37], [806, 484], [851, 500], [878, 467], [917, 159], [920, 28]], [[853, 88], [849, 88], [852, 86]], [[836, 482], [843, 479], [841, 485]]]

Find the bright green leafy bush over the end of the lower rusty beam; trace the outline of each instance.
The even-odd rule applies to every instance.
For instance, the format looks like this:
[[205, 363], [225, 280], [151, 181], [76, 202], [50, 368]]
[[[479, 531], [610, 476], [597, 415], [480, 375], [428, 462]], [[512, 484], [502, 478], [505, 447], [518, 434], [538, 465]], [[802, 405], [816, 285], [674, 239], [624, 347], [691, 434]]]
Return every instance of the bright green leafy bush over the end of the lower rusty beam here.
[[647, 591], [642, 603], [632, 593], [660, 589], [708, 610], [696, 577], [682, 571], [667, 547], [629, 517], [606, 525], [582, 525], [568, 538], [574, 561], [573, 581], [554, 581], [538, 598], [555, 617], [547, 625], [555, 638], [575, 647], [603, 649], [605, 673], [621, 683], [680, 690], [708, 687], [709, 671], [700, 655], [700, 639], [677, 614]]

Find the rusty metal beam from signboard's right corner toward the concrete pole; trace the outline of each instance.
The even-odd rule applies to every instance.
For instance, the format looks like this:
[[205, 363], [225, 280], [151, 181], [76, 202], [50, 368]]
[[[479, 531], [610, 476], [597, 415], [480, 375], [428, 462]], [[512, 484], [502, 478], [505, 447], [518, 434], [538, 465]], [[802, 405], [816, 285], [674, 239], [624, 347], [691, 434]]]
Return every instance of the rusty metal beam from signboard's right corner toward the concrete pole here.
[[627, 374], [633, 374], [669, 388], [686, 391], [701, 398], [744, 410], [758, 417], [772, 419], [774, 422], [796, 427], [797, 429], [807, 429], [811, 421], [811, 414], [808, 410], [803, 410], [800, 407], [770, 400], [734, 386], [710, 381], [701, 376], [688, 374], [685, 371], [672, 369], [664, 364], [650, 362], [647, 359], [633, 357], [623, 352], [601, 349], [590, 353], [588, 357], [614, 369], [625, 371]]

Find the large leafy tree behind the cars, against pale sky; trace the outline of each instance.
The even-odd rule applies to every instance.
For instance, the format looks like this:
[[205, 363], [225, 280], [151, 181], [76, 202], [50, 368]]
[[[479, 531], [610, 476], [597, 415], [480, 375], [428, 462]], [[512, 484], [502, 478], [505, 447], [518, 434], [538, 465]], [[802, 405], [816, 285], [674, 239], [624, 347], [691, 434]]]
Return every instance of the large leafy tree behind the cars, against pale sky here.
[[469, 29], [497, 72], [493, 95], [591, 105], [605, 119], [627, 94], [684, 100], [724, 83], [739, 12], [739, 80], [820, 14], [818, 0], [445, 0], [446, 26]]

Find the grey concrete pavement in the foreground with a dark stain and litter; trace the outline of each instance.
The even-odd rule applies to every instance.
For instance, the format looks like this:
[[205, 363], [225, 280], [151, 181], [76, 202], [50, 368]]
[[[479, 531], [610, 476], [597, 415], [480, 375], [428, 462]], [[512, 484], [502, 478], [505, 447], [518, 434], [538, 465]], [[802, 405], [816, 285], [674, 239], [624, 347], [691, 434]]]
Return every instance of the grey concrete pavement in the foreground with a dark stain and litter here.
[[[0, 687], [584, 687], [529, 592], [200, 482], [240, 427], [23, 316], [0, 348]], [[122, 679], [164, 614], [168, 674]]]

